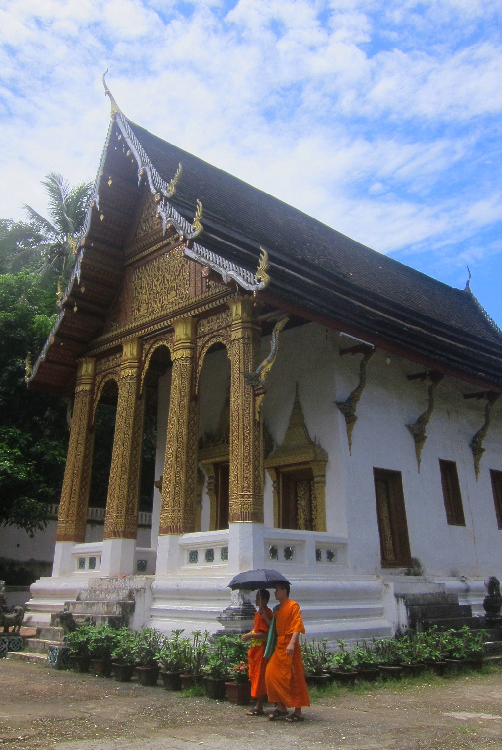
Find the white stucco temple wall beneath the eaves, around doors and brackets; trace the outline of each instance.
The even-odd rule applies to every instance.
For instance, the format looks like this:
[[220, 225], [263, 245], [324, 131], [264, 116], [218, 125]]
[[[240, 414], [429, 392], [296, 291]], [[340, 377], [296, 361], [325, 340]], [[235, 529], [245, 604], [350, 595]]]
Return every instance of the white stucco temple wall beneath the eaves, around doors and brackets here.
[[[497, 529], [488, 469], [502, 469], [502, 404], [491, 410], [479, 481], [469, 443], [484, 421], [484, 401], [465, 401], [476, 386], [445, 377], [435, 391], [435, 408], [422, 449], [420, 473], [406, 424], [426, 409], [428, 381], [408, 381], [418, 365], [377, 350], [367, 366], [367, 385], [357, 407], [349, 455], [344, 418], [334, 401], [343, 401], [359, 381], [360, 355], [341, 357], [356, 344], [349, 337], [309, 324], [281, 335], [281, 350], [267, 380], [263, 416], [280, 445], [294, 399], [296, 380], [311, 437], [329, 454], [326, 469], [328, 532], [349, 539], [354, 573], [380, 572], [380, 541], [373, 467], [400, 471], [412, 556], [427, 574], [500, 575], [502, 531]], [[441, 490], [439, 458], [455, 460], [466, 526], [449, 526]], [[266, 484], [266, 523], [271, 522], [272, 492]], [[267, 511], [268, 508], [268, 511]], [[388, 572], [388, 571], [386, 571]]]

